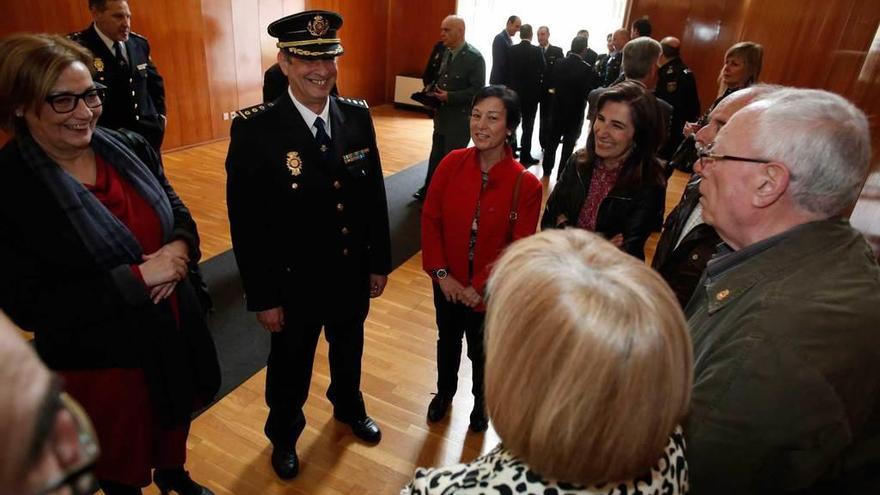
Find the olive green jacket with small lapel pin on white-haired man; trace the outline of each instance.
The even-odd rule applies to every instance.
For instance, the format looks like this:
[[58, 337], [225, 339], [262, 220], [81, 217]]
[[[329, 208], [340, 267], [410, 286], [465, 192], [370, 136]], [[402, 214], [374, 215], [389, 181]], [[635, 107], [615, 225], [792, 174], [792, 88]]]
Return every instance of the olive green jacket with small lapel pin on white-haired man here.
[[686, 308], [693, 493], [877, 493], [880, 269], [843, 220], [762, 244]]

